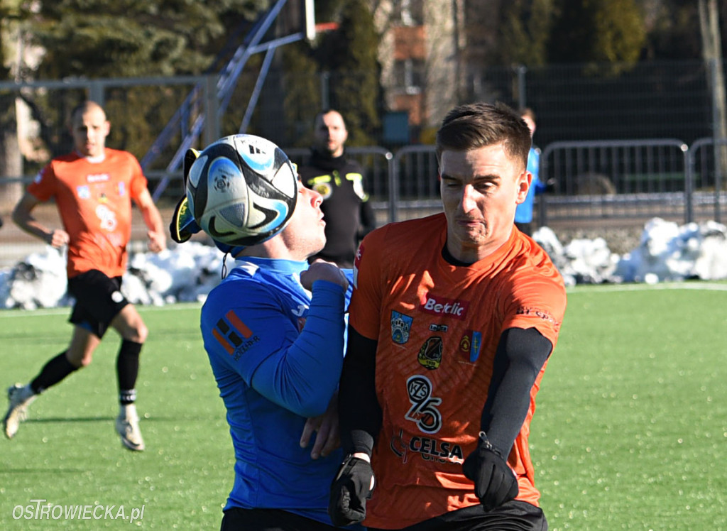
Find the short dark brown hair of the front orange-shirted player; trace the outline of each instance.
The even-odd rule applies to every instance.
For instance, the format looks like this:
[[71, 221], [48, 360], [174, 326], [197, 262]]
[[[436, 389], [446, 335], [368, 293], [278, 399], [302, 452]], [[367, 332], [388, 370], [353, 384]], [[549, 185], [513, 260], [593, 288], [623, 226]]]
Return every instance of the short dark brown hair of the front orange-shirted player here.
[[437, 131], [437, 160], [445, 150], [469, 151], [502, 143], [505, 153], [528, 164], [532, 144], [525, 122], [504, 103], [467, 103], [444, 117]]

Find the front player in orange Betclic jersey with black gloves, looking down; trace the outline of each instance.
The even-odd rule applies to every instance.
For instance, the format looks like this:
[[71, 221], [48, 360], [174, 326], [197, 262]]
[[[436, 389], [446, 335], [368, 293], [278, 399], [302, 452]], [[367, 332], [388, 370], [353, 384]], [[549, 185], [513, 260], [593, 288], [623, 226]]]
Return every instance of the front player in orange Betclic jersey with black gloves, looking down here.
[[547, 530], [528, 436], [566, 292], [513, 223], [531, 185], [530, 145], [505, 105], [454, 108], [437, 133], [444, 212], [362, 241], [335, 524]]

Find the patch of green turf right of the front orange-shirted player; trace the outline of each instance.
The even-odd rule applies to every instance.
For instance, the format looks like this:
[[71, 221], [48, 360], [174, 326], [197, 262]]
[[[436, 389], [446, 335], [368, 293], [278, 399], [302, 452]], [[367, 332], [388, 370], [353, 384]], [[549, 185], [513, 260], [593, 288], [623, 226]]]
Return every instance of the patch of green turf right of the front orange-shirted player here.
[[530, 439], [551, 530], [727, 529], [727, 284], [677, 287], [569, 293]]

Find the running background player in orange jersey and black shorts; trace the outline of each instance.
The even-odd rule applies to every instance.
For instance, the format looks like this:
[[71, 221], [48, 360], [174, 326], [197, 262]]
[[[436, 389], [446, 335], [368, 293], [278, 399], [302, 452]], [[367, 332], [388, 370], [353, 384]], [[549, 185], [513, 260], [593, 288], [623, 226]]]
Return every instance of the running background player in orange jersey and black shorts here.
[[[166, 236], [137, 159], [105, 147], [110, 129], [100, 105], [92, 101], [78, 105], [71, 113], [73, 153], [44, 167], [12, 214], [20, 228], [52, 247], [68, 245], [68, 291], [76, 304], [69, 319], [73, 335], [68, 348], [50, 359], [30, 383], [8, 389], [10, 403], [3, 427], [9, 439], [36, 396], [91, 363], [95, 348], [112, 327], [121, 335], [116, 359], [121, 408], [116, 431], [126, 448], [144, 450], [134, 402], [139, 354], [148, 330], [120, 291], [131, 237], [132, 199], [149, 229], [148, 249], [165, 249]], [[63, 229], [47, 228], [31, 213], [49, 199], [55, 199]]]

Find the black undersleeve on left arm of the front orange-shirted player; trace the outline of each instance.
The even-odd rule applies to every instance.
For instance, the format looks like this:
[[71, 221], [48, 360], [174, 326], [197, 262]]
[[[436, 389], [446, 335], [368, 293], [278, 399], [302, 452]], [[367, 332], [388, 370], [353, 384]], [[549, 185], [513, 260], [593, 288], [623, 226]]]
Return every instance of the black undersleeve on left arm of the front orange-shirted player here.
[[376, 397], [377, 341], [364, 338], [349, 325], [348, 347], [338, 391], [341, 445], [345, 454], [371, 455], [382, 412]]

